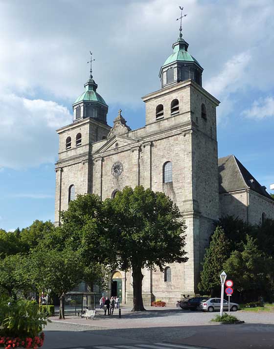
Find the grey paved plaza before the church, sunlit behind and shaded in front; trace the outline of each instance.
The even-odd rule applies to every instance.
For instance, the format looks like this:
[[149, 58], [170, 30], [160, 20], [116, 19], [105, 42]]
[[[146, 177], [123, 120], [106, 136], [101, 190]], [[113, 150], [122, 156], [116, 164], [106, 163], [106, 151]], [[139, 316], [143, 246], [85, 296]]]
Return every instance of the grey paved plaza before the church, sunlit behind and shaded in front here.
[[245, 324], [220, 325], [210, 321], [217, 313], [175, 307], [121, 310], [121, 318], [117, 310], [113, 316], [98, 310], [94, 320], [51, 318], [44, 349], [274, 349], [274, 312], [237, 311], [233, 315]]

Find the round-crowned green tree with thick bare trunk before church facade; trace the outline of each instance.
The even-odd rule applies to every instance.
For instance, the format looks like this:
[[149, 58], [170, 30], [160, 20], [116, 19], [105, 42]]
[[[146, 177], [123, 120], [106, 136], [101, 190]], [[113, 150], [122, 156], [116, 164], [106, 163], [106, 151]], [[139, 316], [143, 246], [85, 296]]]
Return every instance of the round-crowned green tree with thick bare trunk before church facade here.
[[159, 267], [163, 271], [166, 263], [187, 260], [184, 221], [168, 196], [142, 186], [125, 187], [105, 204], [114, 212], [110, 239], [117, 264], [122, 270], [132, 270], [132, 310], [144, 310], [142, 269]]

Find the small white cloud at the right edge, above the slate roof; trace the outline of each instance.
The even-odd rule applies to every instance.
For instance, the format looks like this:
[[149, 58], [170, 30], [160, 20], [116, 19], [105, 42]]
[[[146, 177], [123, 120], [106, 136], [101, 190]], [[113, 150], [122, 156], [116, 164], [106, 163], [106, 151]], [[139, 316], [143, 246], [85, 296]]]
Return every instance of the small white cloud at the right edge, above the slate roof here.
[[266, 117], [274, 116], [274, 98], [266, 97], [260, 98], [257, 101], [254, 101], [251, 109], [246, 109], [242, 112], [243, 115], [252, 118], [252, 119], [263, 119]]

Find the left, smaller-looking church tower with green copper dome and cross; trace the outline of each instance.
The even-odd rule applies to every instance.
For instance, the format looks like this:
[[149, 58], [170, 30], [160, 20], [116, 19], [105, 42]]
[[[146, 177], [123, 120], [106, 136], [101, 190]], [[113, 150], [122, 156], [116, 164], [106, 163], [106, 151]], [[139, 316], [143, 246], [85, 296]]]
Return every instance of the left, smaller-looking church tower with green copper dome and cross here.
[[55, 167], [56, 225], [60, 224], [59, 212], [68, 209], [70, 200], [77, 194], [92, 192], [92, 144], [106, 139], [111, 130], [107, 124], [108, 105], [97, 92], [92, 65], [84, 87], [85, 91], [72, 104], [73, 122], [57, 130], [59, 159]]

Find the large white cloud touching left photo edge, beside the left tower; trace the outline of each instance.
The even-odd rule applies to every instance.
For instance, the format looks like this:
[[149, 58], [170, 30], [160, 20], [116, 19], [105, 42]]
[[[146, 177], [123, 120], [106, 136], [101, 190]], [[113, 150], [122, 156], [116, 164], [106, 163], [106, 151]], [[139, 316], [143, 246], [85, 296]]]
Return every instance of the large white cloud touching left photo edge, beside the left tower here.
[[56, 102], [0, 95], [0, 167], [20, 169], [54, 162], [55, 130], [71, 122], [66, 107]]

